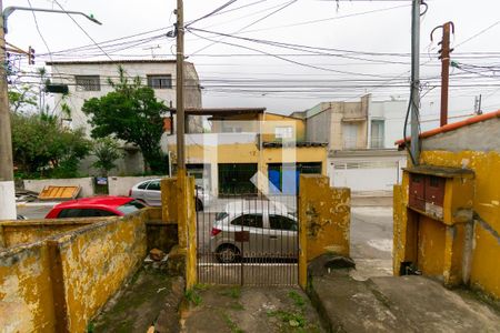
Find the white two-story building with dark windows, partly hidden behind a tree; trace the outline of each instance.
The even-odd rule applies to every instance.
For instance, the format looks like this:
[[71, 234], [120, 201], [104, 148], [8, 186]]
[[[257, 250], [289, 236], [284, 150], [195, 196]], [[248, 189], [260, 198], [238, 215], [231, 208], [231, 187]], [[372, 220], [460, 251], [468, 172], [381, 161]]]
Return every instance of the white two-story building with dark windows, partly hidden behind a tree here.
[[[83, 128], [90, 137], [91, 128], [87, 115], [81, 111], [83, 102], [90, 98], [99, 98], [112, 91], [109, 80], [118, 81], [118, 67], [121, 65], [130, 78], [139, 77], [143, 84], [151, 87], [159, 100], [169, 107], [176, 107], [176, 60], [117, 60], [117, 61], [53, 61], [51, 67], [54, 83], [63, 83], [69, 88], [68, 95], [58, 94], [56, 105], [66, 103], [70, 111], [71, 128]], [[184, 63], [186, 107], [201, 108], [201, 88], [194, 64]], [[64, 99], [64, 101], [61, 101]], [[200, 118], [189, 118], [187, 127], [190, 131], [201, 131]], [[114, 173], [141, 173], [143, 160], [137, 147], [123, 144], [124, 158], [118, 161]], [[92, 158], [82, 162], [81, 169], [89, 170]]]

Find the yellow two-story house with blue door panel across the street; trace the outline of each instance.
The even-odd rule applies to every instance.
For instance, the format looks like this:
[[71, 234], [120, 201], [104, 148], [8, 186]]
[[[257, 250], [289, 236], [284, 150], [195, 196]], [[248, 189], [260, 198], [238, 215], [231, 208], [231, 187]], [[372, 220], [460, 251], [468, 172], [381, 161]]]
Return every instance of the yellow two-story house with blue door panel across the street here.
[[[296, 194], [301, 173], [327, 173], [324, 143], [306, 141], [303, 119], [264, 108], [187, 109], [206, 133], [186, 137], [186, 168], [214, 195]], [[176, 162], [176, 135], [168, 137]]]

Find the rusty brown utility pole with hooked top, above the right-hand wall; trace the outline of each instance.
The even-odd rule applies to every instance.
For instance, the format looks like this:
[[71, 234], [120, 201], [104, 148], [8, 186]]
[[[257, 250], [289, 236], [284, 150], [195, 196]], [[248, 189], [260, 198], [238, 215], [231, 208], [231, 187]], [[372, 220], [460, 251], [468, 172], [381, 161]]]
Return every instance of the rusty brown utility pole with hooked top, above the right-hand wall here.
[[448, 123], [448, 87], [450, 82], [450, 53], [453, 50], [450, 50], [450, 32], [454, 33], [453, 22], [446, 22], [442, 26], [436, 27], [431, 32], [431, 41], [432, 33], [436, 29], [442, 28], [442, 39], [441, 39], [441, 50], [439, 52], [439, 59], [441, 59], [441, 115], [440, 115], [440, 125], [443, 127]]

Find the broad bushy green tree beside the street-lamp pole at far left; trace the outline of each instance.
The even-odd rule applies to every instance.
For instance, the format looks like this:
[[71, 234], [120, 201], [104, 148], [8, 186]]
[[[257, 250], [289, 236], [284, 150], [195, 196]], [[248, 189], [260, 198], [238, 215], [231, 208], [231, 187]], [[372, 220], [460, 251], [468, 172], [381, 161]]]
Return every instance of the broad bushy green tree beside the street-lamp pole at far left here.
[[91, 148], [82, 130], [68, 129], [44, 113], [12, 112], [11, 127], [13, 160], [23, 176], [77, 176]]

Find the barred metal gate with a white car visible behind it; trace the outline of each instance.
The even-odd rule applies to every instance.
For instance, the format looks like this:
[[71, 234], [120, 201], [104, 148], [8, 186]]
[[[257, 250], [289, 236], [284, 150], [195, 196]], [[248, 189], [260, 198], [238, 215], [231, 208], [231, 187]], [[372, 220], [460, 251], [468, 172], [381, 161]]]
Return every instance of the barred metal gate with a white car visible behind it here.
[[197, 196], [199, 283], [298, 284], [298, 196]]

